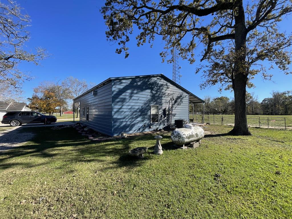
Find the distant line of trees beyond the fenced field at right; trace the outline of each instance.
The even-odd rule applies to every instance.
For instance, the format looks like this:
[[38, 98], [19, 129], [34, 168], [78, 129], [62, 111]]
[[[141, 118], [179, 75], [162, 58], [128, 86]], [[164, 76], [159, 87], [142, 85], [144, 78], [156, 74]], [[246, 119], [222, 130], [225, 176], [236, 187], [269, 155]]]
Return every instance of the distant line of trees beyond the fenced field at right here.
[[[254, 93], [246, 94], [246, 108], [248, 115], [292, 115], [292, 91], [272, 91], [270, 97], [258, 101], [258, 96]], [[219, 114], [234, 114], [234, 99], [226, 96], [214, 97], [205, 96], [205, 113], [210, 113], [210, 109], [218, 110]], [[190, 113], [193, 106], [190, 104]], [[194, 104], [194, 113], [203, 113], [203, 104]]]

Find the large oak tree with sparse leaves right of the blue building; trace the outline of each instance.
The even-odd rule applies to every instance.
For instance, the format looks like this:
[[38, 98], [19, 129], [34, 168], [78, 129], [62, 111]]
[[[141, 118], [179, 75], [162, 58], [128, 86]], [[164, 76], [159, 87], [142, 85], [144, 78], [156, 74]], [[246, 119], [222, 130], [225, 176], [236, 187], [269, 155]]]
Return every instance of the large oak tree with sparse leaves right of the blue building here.
[[[261, 73], [270, 79], [263, 61], [289, 74], [291, 33], [280, 32], [278, 22], [291, 13], [291, 0], [107, 0], [101, 12], [108, 26], [107, 39], [118, 42], [117, 53], [125, 52], [134, 28], [138, 46], [153, 43], [160, 35], [164, 60], [173, 48], [194, 63], [198, 43], [205, 46], [198, 67], [206, 81], [233, 89], [235, 124], [231, 133], [250, 135], [246, 120], [246, 87]], [[168, 60], [168, 61], [171, 61]], [[202, 62], [204, 63], [204, 62]]]

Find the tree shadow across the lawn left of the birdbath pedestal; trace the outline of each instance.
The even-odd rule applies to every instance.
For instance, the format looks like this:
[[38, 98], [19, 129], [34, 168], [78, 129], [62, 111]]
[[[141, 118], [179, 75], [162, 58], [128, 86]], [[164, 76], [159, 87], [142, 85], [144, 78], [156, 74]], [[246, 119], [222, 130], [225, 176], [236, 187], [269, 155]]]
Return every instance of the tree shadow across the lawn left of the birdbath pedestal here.
[[[145, 160], [135, 160], [127, 153], [140, 146], [155, 145], [154, 135], [133, 136], [126, 139], [106, 140], [94, 142], [81, 136], [74, 128], [52, 130], [47, 128], [26, 128], [23, 132], [35, 133], [34, 138], [25, 145], [12, 150], [0, 152], [0, 169], [21, 166], [32, 168], [59, 161], [56, 168], [66, 168], [74, 163], [109, 163], [115, 168], [135, 168], [143, 165]], [[152, 141], [150, 141], [152, 140]], [[136, 146], [137, 145], [137, 146]], [[117, 159], [116, 159], [117, 157]], [[15, 159], [25, 158], [25, 159]], [[44, 158], [44, 162], [41, 159]], [[49, 161], [48, 161], [49, 159]], [[23, 161], [23, 162], [21, 162]]]

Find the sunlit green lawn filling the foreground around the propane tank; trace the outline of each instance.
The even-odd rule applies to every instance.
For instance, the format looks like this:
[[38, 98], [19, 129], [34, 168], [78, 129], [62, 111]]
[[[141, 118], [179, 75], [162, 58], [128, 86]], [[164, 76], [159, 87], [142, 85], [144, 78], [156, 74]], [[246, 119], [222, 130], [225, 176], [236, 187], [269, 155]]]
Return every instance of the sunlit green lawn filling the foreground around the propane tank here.
[[[91, 142], [22, 128], [37, 135], [0, 152], [0, 218], [292, 218], [292, 131], [231, 129], [210, 126], [187, 150], [160, 133], [157, 156], [154, 135]], [[128, 157], [137, 146], [150, 147], [145, 159]]]

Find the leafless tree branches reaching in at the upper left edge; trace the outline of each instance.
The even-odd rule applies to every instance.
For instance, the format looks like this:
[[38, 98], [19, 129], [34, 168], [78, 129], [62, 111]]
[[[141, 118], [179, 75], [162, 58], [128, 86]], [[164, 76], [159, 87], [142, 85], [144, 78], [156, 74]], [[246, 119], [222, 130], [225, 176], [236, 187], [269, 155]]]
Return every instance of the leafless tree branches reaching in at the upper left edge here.
[[29, 22], [29, 16], [22, 14], [18, 4], [10, 0], [7, 4], [0, 2], [0, 87], [6, 88], [6, 93], [0, 90], [1, 99], [5, 99], [7, 93], [19, 92], [22, 82], [32, 79], [28, 73], [18, 69], [20, 62], [39, 65], [39, 61], [47, 56], [43, 48], [36, 48], [35, 53], [24, 49], [25, 42], [29, 40]]

